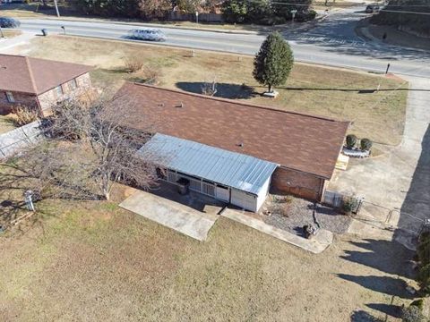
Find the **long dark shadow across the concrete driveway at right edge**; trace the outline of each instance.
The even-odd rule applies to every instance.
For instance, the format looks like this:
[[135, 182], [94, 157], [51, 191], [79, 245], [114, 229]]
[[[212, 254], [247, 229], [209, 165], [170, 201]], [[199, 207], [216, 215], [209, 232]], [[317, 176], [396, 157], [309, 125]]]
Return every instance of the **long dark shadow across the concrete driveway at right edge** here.
[[430, 218], [430, 126], [427, 126], [421, 148], [409, 191], [400, 208], [398, 228], [394, 232], [396, 241], [412, 245], [417, 242], [424, 220]]

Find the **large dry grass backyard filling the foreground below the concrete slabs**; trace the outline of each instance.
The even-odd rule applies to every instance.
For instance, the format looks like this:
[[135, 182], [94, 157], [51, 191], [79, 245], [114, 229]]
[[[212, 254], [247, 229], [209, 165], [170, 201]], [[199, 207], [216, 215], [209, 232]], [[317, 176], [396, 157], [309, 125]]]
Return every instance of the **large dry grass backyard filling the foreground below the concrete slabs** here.
[[311, 255], [224, 217], [196, 242], [118, 208], [128, 193], [45, 200], [1, 236], [0, 319], [392, 321], [409, 302], [397, 243], [341, 235]]

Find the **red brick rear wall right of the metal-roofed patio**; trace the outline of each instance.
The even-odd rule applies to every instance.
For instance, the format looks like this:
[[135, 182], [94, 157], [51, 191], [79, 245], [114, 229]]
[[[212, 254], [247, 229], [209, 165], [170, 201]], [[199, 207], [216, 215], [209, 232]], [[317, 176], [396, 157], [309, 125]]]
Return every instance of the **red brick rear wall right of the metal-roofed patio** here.
[[293, 194], [301, 198], [320, 201], [325, 181], [312, 174], [302, 174], [285, 168], [277, 168], [271, 179], [273, 192]]

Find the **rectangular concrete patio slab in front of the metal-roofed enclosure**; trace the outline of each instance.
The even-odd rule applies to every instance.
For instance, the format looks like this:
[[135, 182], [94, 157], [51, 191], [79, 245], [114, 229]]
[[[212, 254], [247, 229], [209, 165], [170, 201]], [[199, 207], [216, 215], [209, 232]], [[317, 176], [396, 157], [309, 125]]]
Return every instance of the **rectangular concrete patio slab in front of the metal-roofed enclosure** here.
[[146, 191], [135, 191], [119, 206], [198, 241], [206, 240], [212, 225], [219, 217]]

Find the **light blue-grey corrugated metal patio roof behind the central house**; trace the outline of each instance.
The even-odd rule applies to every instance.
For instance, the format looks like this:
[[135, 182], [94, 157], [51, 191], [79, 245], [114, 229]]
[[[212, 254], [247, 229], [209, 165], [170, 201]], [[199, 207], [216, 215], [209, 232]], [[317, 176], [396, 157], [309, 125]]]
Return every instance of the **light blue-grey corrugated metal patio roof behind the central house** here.
[[255, 195], [277, 164], [192, 140], [155, 134], [140, 150], [150, 162]]

